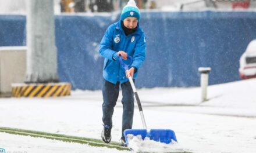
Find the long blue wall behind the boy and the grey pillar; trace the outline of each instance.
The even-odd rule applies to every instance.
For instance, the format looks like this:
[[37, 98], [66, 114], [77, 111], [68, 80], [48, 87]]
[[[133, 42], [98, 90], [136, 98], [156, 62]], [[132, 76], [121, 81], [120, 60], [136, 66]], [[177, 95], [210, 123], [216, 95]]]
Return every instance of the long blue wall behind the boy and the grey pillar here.
[[[73, 89], [101, 89], [98, 45], [116, 16], [56, 16], [58, 74]], [[147, 58], [138, 88], [199, 86], [198, 67], [211, 67], [209, 84], [239, 80], [239, 58], [256, 38], [256, 12], [142, 12]], [[0, 16], [0, 46], [26, 44], [26, 17]]]

